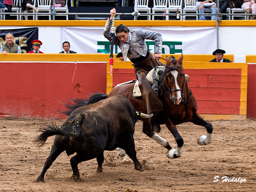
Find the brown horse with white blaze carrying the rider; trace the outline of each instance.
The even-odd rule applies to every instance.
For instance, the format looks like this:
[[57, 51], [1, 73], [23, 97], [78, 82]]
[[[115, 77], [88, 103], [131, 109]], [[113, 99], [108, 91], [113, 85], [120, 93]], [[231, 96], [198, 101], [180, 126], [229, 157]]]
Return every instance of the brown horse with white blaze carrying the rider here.
[[[159, 79], [155, 79], [159, 84], [158, 96], [163, 102], [163, 111], [159, 113], [157, 120], [160, 125], [165, 124], [169, 131], [171, 131], [175, 137], [177, 148], [172, 148], [165, 139], [155, 134], [149, 122], [143, 122], [143, 133], [167, 148], [169, 150], [168, 157], [171, 159], [181, 156], [183, 146], [183, 139], [175, 125], [192, 122], [195, 125], [204, 126], [207, 130], [207, 135], [201, 135], [199, 137], [199, 145], [211, 143], [213, 136], [211, 123], [205, 121], [197, 113], [197, 102], [192, 91], [189, 89], [189, 76], [184, 74], [182, 60], [183, 55], [179, 59], [173, 56], [166, 56], [166, 65], [163, 67], [163, 70], [159, 70]], [[115, 95], [125, 96], [136, 111], [147, 113], [143, 99], [133, 96], [134, 84], [128, 83], [116, 86], [110, 91], [108, 97]]]

